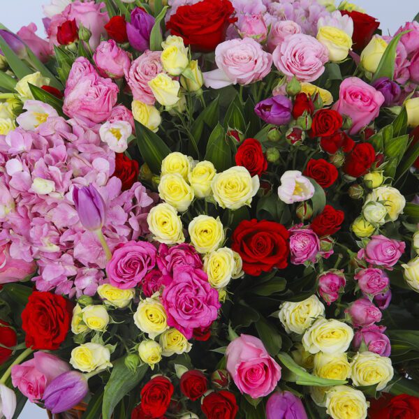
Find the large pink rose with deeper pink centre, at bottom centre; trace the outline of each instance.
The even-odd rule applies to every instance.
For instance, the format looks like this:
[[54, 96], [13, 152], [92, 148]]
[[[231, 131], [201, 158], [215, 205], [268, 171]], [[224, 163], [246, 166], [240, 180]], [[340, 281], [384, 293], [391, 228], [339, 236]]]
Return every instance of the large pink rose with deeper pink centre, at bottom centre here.
[[281, 378], [281, 367], [260, 339], [241, 335], [227, 346], [227, 371], [240, 392], [253, 399], [270, 394]]

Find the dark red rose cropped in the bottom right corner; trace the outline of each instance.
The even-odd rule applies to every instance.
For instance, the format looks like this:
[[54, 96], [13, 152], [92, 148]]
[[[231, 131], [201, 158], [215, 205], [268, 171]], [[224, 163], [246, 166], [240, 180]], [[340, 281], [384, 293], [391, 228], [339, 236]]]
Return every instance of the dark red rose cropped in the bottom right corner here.
[[392, 396], [383, 393], [381, 397], [369, 400], [369, 419], [418, 419], [419, 398], [409, 395]]

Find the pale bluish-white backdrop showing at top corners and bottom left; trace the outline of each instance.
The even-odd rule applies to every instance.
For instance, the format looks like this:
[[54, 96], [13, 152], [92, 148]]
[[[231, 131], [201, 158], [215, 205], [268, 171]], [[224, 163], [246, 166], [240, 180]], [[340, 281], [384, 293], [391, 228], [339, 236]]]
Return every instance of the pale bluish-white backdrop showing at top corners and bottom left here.
[[[252, 1], [252, 0], [248, 0]], [[383, 34], [393, 34], [407, 20], [413, 20], [419, 12], [417, 0], [351, 0], [381, 22]], [[1, 0], [0, 20], [11, 31], [18, 31], [23, 25], [35, 22], [38, 34], [43, 34], [41, 5], [47, 0]], [[338, 2], [338, 1], [337, 1]], [[45, 411], [28, 403], [21, 419], [46, 419]]]

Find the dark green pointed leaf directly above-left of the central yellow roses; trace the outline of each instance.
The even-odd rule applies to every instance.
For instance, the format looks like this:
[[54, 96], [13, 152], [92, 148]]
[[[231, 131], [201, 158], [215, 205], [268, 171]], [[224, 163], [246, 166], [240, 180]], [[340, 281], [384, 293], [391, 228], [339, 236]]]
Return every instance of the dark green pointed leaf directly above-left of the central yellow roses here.
[[147, 163], [153, 173], [160, 173], [161, 161], [170, 154], [169, 147], [159, 135], [138, 121], [135, 121], [135, 133], [142, 159]]

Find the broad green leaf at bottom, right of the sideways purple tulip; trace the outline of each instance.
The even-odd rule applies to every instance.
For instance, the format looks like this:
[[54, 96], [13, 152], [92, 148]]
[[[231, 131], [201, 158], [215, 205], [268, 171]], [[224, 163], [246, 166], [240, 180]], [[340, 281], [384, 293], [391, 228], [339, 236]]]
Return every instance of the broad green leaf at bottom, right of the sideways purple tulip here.
[[124, 395], [128, 394], [135, 385], [140, 383], [147, 369], [148, 365], [141, 365], [134, 373], [125, 366], [124, 358], [119, 358], [114, 362], [112, 373], [103, 393], [103, 419], [110, 419], [115, 406], [117, 406]]

